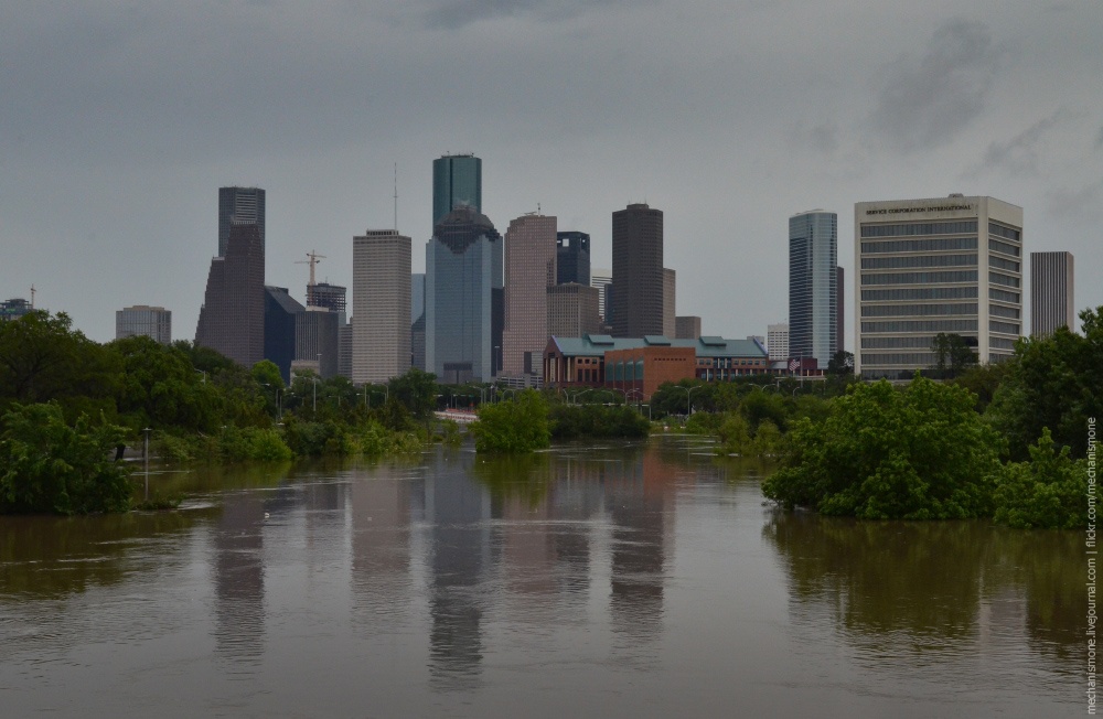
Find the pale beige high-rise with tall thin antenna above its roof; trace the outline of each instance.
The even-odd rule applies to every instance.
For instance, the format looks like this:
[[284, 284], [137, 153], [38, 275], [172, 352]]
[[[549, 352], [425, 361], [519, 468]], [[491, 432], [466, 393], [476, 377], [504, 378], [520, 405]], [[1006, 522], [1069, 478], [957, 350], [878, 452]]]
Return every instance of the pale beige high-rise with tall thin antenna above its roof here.
[[411, 251], [397, 229], [353, 237], [354, 384], [384, 383], [410, 367]]

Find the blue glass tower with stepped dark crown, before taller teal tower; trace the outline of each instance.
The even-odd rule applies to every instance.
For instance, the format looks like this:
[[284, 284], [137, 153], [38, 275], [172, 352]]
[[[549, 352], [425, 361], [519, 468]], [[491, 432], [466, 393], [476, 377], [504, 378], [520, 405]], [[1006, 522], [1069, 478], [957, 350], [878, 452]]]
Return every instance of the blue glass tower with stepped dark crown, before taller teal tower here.
[[438, 382], [489, 382], [497, 371], [502, 245], [493, 223], [467, 205], [433, 229], [425, 258], [425, 355]]

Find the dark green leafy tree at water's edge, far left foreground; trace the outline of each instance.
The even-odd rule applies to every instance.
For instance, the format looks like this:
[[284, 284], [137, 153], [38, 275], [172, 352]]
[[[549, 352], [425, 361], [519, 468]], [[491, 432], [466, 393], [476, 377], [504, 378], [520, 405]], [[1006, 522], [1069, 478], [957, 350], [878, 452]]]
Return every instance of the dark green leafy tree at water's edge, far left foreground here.
[[131, 486], [126, 468], [109, 458], [122, 427], [73, 426], [56, 404], [12, 405], [0, 434], [0, 513], [125, 512]]

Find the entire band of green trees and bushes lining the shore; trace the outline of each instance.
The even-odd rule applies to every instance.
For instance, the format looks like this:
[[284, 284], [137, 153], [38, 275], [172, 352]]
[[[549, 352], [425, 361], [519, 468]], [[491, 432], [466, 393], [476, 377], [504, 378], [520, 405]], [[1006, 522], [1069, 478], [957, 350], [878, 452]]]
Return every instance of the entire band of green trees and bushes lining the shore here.
[[101, 345], [65, 314], [32, 312], [0, 323], [0, 514], [130, 508], [133, 485], [118, 459], [122, 444], [141, 447], [147, 436], [150, 453], [169, 463], [460, 443], [456, 422], [433, 418], [443, 405], [478, 406], [470, 434], [479, 452], [524, 454], [553, 440], [639, 438], [674, 425], [715, 436], [718, 454], [775, 461], [763, 494], [782, 507], [1084, 527], [1086, 423], [1103, 400], [1101, 318], [1103, 308], [1082, 312], [1083, 335], [1022, 339], [999, 365], [977, 366], [960, 337], [942, 336], [939, 365], [903, 387], [859, 382], [845, 353], [824, 380], [665, 384], [645, 416], [615, 390], [441, 386], [417, 369], [360, 388], [306, 372], [285, 386], [267, 361], [246, 369], [206, 347], [147, 337]]

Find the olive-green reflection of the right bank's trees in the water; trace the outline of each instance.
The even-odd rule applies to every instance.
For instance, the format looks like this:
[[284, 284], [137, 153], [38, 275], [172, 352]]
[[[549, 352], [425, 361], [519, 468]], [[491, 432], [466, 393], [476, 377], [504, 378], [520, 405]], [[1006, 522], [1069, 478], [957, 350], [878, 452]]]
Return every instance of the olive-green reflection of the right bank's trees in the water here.
[[782, 560], [796, 620], [829, 622], [866, 656], [903, 651], [922, 664], [1026, 638], [1058, 670], [1073, 668], [1083, 614], [1077, 533], [777, 512], [762, 535]]

